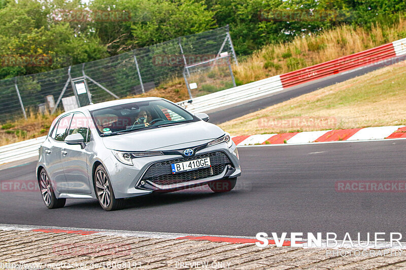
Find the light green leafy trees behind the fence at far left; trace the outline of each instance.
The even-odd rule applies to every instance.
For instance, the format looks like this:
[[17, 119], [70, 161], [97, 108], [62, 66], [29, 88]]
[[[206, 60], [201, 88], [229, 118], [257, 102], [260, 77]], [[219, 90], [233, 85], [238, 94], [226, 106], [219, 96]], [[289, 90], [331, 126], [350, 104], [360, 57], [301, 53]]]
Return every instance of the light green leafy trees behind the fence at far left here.
[[[67, 22], [54, 20], [54, 5], [20, 0], [0, 9], [0, 79], [108, 56], [94, 33], [80, 32]], [[43, 61], [22, 61], [30, 58]]]

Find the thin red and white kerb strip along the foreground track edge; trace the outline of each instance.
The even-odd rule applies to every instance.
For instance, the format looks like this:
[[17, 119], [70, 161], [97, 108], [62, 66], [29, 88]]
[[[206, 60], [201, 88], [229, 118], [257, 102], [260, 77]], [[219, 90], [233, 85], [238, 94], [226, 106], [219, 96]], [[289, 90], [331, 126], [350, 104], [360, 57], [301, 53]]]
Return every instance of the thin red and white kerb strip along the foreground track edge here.
[[[117, 237], [136, 237], [136, 238], [154, 238], [154, 239], [173, 239], [173, 240], [194, 240], [194, 241], [209, 241], [217, 243], [230, 243], [230, 244], [250, 244], [253, 245], [259, 242], [254, 237], [244, 237], [244, 236], [219, 236], [219, 235], [198, 235], [198, 234], [174, 234], [174, 233], [158, 233], [158, 232], [139, 232], [130, 230], [111, 230], [111, 229], [90, 229], [90, 228], [73, 228], [73, 227], [55, 227], [55, 226], [35, 226], [35, 225], [17, 225], [17, 224], [0, 224], [0, 231], [10, 231], [17, 230], [20, 232], [40, 232], [49, 234], [69, 234], [69, 235], [98, 235], [98, 236], [117, 236]], [[304, 235], [304, 234], [303, 234]], [[272, 237], [267, 237], [268, 245], [276, 245], [277, 243]], [[291, 246], [291, 239], [284, 238], [282, 241], [279, 239], [279, 243], [282, 246]], [[315, 246], [308, 246], [308, 240], [303, 238], [301, 241], [295, 241], [296, 244], [302, 244], [302, 248], [346, 248], [346, 249], [398, 249], [406, 250], [406, 242], [400, 242], [401, 246], [394, 241], [390, 242], [380, 242], [379, 247], [374, 246], [374, 241], [369, 243], [366, 241], [357, 240], [351, 243], [336, 240], [336, 247], [327, 246], [326, 240], [321, 240], [321, 242]], [[259, 242], [262, 244], [262, 242]], [[355, 243], [355, 245], [354, 245]]]

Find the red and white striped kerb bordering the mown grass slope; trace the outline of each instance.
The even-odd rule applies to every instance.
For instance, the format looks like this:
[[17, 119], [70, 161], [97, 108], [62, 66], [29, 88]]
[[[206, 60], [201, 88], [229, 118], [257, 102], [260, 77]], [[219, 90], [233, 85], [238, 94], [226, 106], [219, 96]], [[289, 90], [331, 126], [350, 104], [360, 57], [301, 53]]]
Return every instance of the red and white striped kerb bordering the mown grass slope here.
[[334, 129], [321, 131], [289, 132], [231, 136], [237, 146], [256, 144], [303, 144], [334, 141], [368, 141], [406, 138], [406, 126]]

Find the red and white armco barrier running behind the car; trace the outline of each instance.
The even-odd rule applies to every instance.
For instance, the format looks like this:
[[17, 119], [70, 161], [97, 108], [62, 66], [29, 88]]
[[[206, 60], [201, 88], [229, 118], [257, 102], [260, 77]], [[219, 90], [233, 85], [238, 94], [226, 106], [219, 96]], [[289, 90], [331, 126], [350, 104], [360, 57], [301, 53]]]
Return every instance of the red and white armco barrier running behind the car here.
[[[403, 38], [339, 59], [197, 97], [192, 100], [192, 103], [186, 100], [178, 104], [193, 113], [210, 111], [405, 54], [406, 38]], [[45, 138], [46, 136], [0, 146], [0, 164], [38, 156], [38, 148]]]

